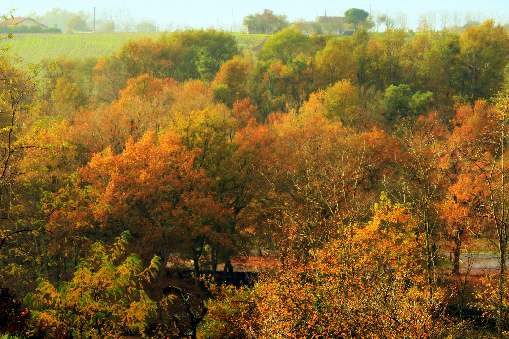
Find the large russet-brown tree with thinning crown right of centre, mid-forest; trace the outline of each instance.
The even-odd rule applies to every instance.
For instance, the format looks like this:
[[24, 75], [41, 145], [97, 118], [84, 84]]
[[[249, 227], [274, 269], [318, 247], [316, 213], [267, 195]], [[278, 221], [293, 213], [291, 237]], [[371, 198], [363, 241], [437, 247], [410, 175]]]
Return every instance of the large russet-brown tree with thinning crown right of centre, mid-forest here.
[[391, 171], [386, 157], [394, 154], [394, 143], [382, 131], [353, 134], [341, 122], [329, 124], [325, 114], [312, 95], [299, 115], [274, 121], [278, 137], [272, 136], [261, 162], [262, 206], [270, 223], [260, 232], [273, 236], [260, 235], [260, 241], [285, 258], [305, 257], [324, 241], [349, 234], [378, 194], [375, 178]]

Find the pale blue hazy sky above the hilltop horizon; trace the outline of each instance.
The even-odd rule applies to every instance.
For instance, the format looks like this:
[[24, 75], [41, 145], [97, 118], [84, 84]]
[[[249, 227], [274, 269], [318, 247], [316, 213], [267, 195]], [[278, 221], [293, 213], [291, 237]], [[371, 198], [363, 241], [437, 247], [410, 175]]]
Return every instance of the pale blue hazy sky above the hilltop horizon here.
[[[369, 0], [368, 0], [369, 1]], [[343, 15], [349, 8], [362, 8], [370, 10], [370, 3], [359, 2], [338, 2], [325, 0], [258, 0], [258, 1], [232, 1], [232, 0], [194, 0], [194, 1], [174, 1], [174, 0], [101, 0], [98, 2], [88, 1], [64, 1], [64, 0], [16, 0], [11, 4], [7, 0], [2, 0], [0, 12], [6, 13], [10, 7], [15, 7], [17, 11], [14, 16], [24, 16], [35, 11], [42, 15], [54, 7], [65, 8], [71, 12], [80, 10], [92, 12], [93, 6], [96, 6], [96, 13], [111, 7], [124, 7], [131, 11], [132, 15], [138, 19], [149, 18], [156, 20], [164, 27], [167, 23], [173, 22], [174, 25], [187, 24], [191, 27], [219, 26], [230, 29], [232, 21], [240, 24], [242, 18], [248, 14], [263, 11], [264, 8], [273, 10], [276, 14], [286, 14], [289, 20], [295, 20], [304, 17], [306, 20], [314, 20], [317, 15], [324, 15], [327, 11], [328, 16]], [[381, 13], [395, 14], [403, 11], [407, 14], [410, 21], [410, 28], [415, 28], [418, 24], [418, 16], [421, 11], [436, 11], [437, 16], [442, 11], [458, 12], [482, 12], [477, 15], [483, 17], [494, 17], [502, 23], [509, 22], [509, 2], [507, 0], [485, 1], [478, 0], [429, 0], [429, 1], [403, 1], [403, 0], [379, 0], [371, 2], [371, 10]]]

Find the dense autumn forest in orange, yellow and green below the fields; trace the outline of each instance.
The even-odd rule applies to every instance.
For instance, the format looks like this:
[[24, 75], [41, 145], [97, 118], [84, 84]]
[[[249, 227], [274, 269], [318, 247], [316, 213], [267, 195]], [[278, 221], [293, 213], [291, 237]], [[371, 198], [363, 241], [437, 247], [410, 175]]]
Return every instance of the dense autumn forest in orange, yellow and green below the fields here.
[[23, 67], [2, 43], [2, 338], [507, 337], [493, 20], [187, 29]]

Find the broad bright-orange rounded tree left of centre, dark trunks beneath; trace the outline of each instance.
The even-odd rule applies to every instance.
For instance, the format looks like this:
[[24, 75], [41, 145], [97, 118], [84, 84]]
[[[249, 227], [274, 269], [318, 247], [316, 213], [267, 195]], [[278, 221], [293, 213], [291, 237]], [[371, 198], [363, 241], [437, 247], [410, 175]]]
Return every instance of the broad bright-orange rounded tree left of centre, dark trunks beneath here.
[[[210, 190], [203, 170], [195, 169], [196, 153], [172, 132], [146, 133], [138, 142], [128, 140], [115, 155], [107, 149], [78, 171], [77, 182], [89, 184], [88, 201], [71, 203], [55, 215], [54, 223], [78, 221], [98, 225], [108, 232], [128, 229], [139, 238], [138, 251], [150, 244], [166, 264], [170, 253], [192, 259], [196, 279], [207, 240], [221, 243], [214, 225], [222, 210]], [[67, 201], [73, 186], [55, 195], [50, 203]], [[84, 192], [84, 191], [83, 191]], [[78, 194], [78, 193], [76, 193]], [[93, 211], [93, 214], [91, 214]]]

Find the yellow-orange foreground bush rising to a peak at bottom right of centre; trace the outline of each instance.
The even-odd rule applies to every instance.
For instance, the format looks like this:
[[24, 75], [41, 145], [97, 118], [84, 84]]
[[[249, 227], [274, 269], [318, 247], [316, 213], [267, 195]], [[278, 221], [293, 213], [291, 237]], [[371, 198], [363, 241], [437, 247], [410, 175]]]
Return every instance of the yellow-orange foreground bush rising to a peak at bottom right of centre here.
[[457, 337], [463, 326], [437, 312], [441, 293], [420, 289], [418, 253], [408, 209], [382, 195], [369, 222], [310, 251], [306, 261], [287, 257], [248, 291], [213, 288], [204, 330], [228, 326], [233, 337], [248, 338]]

